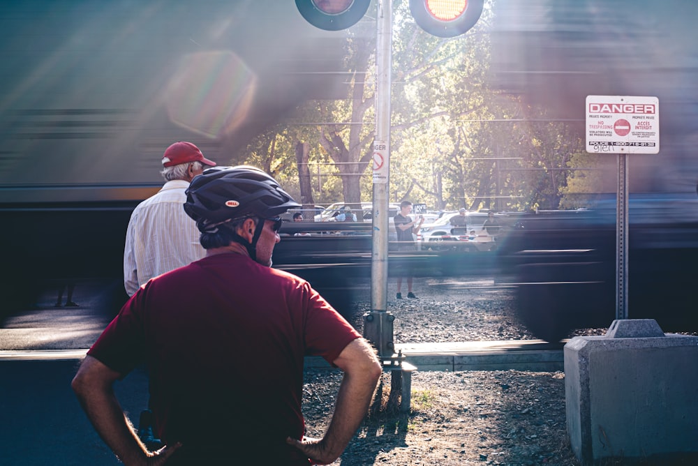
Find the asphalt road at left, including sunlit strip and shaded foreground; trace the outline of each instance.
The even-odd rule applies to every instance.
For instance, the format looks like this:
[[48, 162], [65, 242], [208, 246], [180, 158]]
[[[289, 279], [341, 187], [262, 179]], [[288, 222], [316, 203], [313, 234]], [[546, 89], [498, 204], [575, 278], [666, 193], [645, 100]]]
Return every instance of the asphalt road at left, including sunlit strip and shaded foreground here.
[[[58, 285], [47, 283], [34, 308], [1, 320], [0, 463], [119, 465], [70, 389], [84, 353], [116, 312], [112, 298], [119, 290], [87, 280], [75, 287], [77, 308], [56, 308]], [[147, 405], [147, 375], [135, 370], [115, 389], [138, 422]]]

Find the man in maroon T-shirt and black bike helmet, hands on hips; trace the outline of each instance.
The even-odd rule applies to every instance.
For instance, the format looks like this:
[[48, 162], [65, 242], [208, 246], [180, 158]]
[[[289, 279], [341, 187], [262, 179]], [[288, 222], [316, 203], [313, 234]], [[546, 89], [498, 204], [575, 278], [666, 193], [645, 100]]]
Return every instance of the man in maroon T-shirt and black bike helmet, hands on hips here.
[[[73, 389], [126, 465], [332, 463], [368, 409], [381, 373], [373, 348], [301, 278], [272, 269], [279, 214], [299, 207], [253, 167], [197, 176], [184, 209], [207, 255], [151, 279], [107, 326]], [[304, 438], [303, 362], [344, 370], [322, 439]], [[112, 385], [146, 363], [156, 434], [151, 453]], [[154, 463], [153, 463], [154, 462]]]

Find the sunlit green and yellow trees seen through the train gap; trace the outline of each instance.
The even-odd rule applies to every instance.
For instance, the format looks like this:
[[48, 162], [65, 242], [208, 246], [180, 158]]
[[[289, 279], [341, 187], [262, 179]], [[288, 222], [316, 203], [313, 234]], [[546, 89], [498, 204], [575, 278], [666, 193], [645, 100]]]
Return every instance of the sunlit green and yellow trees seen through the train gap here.
[[[491, 88], [487, 32], [493, 18], [487, 5], [468, 33], [438, 38], [417, 27], [407, 0], [393, 3], [391, 202], [529, 210], [593, 201], [587, 193], [604, 182], [588, 165], [593, 158], [584, 157], [579, 128]], [[299, 195], [294, 148], [307, 142], [316, 203], [370, 200], [375, 36], [373, 22], [348, 30], [346, 100], [304, 103], [248, 146], [246, 163], [268, 170]]]

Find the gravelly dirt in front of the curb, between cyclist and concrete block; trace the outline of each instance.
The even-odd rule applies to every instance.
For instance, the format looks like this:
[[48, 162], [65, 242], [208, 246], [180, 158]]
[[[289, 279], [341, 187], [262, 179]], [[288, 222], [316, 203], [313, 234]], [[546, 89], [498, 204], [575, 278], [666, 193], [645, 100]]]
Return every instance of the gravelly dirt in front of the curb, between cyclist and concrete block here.
[[[341, 374], [306, 373], [307, 435], [325, 432]], [[579, 465], [565, 432], [563, 373], [417, 372], [408, 414], [369, 416], [334, 465]], [[386, 393], [387, 392], [387, 393]]]

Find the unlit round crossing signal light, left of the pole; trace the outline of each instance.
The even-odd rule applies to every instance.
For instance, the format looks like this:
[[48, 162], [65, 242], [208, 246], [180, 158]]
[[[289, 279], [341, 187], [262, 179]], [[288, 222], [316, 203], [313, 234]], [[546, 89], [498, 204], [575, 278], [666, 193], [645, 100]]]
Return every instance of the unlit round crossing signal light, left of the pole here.
[[296, 0], [307, 22], [325, 31], [347, 29], [364, 17], [371, 0]]

